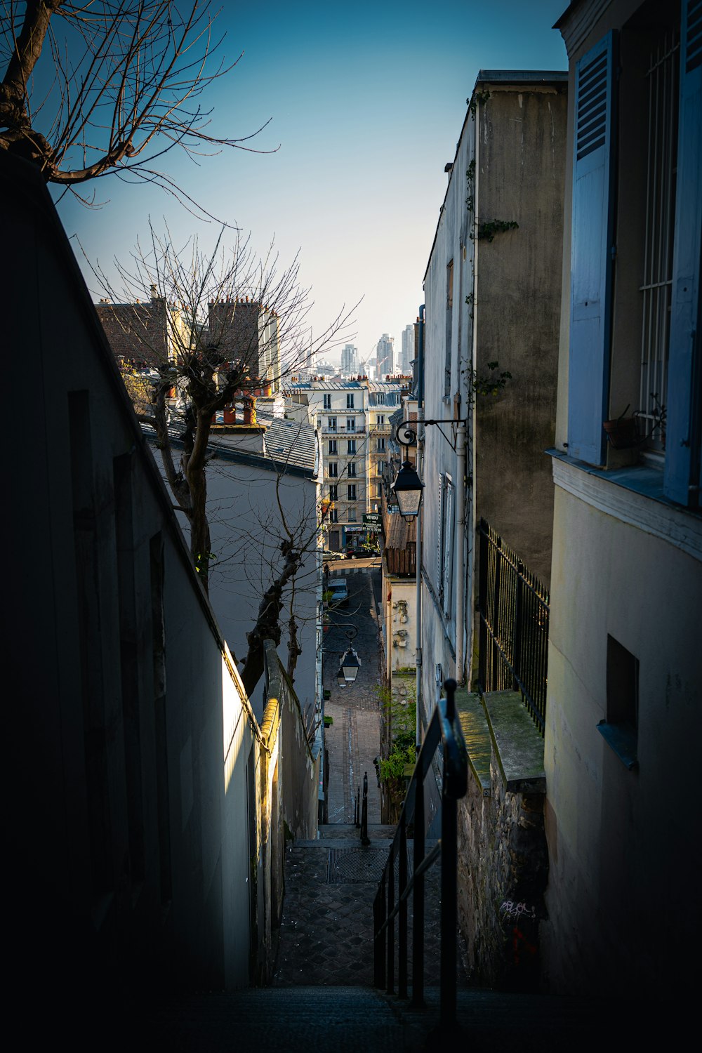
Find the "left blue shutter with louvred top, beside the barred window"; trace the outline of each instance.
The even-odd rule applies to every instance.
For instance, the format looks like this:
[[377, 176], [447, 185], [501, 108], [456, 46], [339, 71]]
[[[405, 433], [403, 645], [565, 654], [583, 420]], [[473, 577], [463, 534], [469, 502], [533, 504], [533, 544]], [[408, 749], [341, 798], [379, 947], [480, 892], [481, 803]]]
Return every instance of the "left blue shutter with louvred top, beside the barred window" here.
[[608, 416], [613, 52], [608, 33], [576, 67], [568, 454], [590, 464], [603, 461]]

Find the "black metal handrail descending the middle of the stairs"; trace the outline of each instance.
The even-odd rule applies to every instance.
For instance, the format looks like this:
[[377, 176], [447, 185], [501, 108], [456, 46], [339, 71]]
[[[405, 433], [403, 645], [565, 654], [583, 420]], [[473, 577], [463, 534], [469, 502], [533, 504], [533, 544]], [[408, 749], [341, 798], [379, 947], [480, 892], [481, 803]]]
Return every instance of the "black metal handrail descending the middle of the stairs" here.
[[[437, 702], [409, 780], [393, 843], [378, 882], [373, 905], [374, 984], [395, 988], [395, 919], [398, 919], [398, 995], [407, 997], [407, 899], [413, 893], [413, 1007], [424, 1005], [424, 874], [441, 856], [441, 969], [440, 1013], [442, 1030], [456, 1025], [457, 956], [457, 812], [467, 790], [468, 763], [463, 732], [456, 713], [456, 681], [445, 680], [445, 698]], [[425, 854], [424, 780], [434, 756], [442, 747], [441, 839]], [[418, 792], [419, 790], [419, 792]], [[414, 820], [414, 868], [407, 876], [407, 828]], [[395, 903], [395, 862], [398, 862], [398, 901]]]

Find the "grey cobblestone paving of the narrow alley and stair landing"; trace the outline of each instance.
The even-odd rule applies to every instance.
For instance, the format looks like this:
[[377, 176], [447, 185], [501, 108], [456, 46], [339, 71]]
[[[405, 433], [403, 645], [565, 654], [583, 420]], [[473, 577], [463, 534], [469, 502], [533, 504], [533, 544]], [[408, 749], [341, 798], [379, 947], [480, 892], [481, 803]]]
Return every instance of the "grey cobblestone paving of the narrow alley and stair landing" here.
[[[380, 791], [374, 758], [380, 753], [381, 682], [378, 645], [377, 572], [347, 573], [349, 603], [334, 612], [337, 625], [326, 634], [324, 687], [329, 784], [328, 824], [317, 841], [297, 841], [285, 853], [285, 900], [274, 985], [370, 986], [373, 984], [373, 900], [395, 833], [380, 826]], [[374, 584], [376, 590], [374, 591]], [[344, 628], [354, 624], [361, 659], [356, 683], [340, 689], [336, 672], [346, 645]], [[354, 826], [355, 794], [368, 774], [368, 834], [360, 845]], [[409, 846], [412, 851], [412, 846]], [[397, 883], [397, 882], [396, 882]], [[426, 878], [425, 982], [439, 976], [439, 867]], [[412, 902], [408, 907], [412, 954]], [[463, 977], [462, 966], [459, 975]]]

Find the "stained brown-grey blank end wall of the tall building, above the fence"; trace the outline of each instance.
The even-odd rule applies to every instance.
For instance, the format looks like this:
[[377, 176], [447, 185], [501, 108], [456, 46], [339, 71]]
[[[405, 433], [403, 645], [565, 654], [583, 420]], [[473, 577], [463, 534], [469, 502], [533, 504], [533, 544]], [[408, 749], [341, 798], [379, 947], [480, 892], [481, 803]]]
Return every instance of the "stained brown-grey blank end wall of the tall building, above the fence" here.
[[[567, 93], [482, 84], [476, 222], [476, 366], [512, 379], [476, 399], [476, 511], [548, 585]], [[490, 241], [493, 221], [518, 223]]]

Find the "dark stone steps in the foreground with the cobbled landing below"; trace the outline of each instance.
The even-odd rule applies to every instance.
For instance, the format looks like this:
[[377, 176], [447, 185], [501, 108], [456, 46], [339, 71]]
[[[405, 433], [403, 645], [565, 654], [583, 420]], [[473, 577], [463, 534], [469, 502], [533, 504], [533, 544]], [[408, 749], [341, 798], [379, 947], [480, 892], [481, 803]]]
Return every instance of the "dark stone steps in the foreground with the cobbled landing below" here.
[[[395, 832], [320, 827], [286, 850], [285, 902], [273, 986], [208, 993], [151, 1007], [139, 1048], [168, 1053], [420, 1053], [450, 1037], [476, 1053], [591, 1053], [602, 1038], [630, 1039], [630, 1018], [578, 999], [469, 988], [458, 963], [458, 1033], [438, 1033], [439, 872], [427, 876], [425, 1008], [373, 987], [373, 899]], [[412, 909], [409, 910], [409, 950]], [[412, 953], [412, 950], [410, 950]], [[627, 1024], [628, 1019], [628, 1024]], [[121, 1047], [123, 1048], [123, 1047]]]

